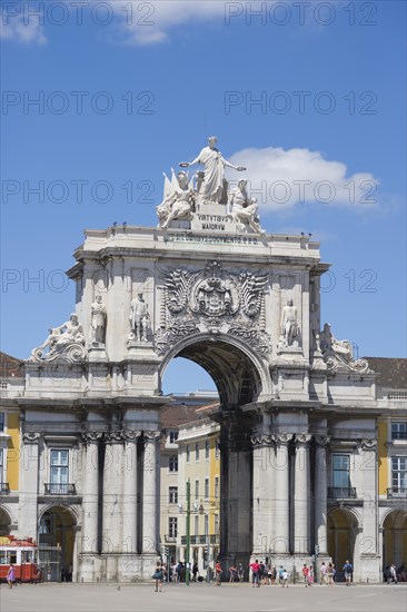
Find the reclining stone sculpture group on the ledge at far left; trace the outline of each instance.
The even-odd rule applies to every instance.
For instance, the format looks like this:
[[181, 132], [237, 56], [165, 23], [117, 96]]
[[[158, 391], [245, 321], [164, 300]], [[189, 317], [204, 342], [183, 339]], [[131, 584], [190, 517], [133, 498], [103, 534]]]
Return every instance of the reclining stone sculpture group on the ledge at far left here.
[[[31, 352], [30, 361], [81, 363], [86, 358], [85, 336], [78, 315], [72, 313], [69, 320], [59, 327], [48, 329], [48, 338]], [[48, 349], [48, 351], [47, 351]]]

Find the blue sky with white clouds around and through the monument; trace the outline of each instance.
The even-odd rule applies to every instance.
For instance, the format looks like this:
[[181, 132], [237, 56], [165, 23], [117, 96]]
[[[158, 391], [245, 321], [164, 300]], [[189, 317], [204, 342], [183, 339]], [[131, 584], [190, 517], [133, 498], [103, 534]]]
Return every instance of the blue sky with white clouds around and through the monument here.
[[[406, 356], [405, 3], [78, 4], [2, 6], [2, 351], [72, 310], [82, 229], [155, 226], [162, 171], [215, 134], [267, 231], [320, 239], [336, 337]], [[180, 363], [167, 392], [208, 387]]]

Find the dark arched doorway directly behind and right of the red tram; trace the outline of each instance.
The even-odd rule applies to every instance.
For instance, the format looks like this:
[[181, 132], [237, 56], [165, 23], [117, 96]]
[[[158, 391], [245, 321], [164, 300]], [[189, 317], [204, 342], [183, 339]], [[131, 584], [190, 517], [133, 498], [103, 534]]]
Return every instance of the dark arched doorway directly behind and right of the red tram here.
[[64, 505], [48, 505], [39, 515], [40, 562], [51, 569], [51, 580], [71, 581], [78, 515]]

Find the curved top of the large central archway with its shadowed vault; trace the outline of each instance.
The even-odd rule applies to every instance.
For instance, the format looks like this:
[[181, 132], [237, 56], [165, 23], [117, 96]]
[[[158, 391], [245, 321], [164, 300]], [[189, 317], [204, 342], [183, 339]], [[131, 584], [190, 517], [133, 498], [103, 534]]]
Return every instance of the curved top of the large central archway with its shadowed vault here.
[[234, 408], [254, 401], [269, 398], [271, 381], [267, 365], [239, 338], [218, 334], [198, 334], [183, 338], [166, 355], [162, 378], [171, 359], [185, 357], [200, 365], [212, 377], [220, 404]]

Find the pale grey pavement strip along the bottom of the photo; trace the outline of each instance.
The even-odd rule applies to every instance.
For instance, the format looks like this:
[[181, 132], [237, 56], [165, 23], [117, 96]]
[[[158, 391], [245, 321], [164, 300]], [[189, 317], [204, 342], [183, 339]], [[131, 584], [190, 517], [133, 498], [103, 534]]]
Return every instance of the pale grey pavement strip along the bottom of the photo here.
[[1, 612], [405, 612], [407, 584], [23, 584], [0, 589]]

